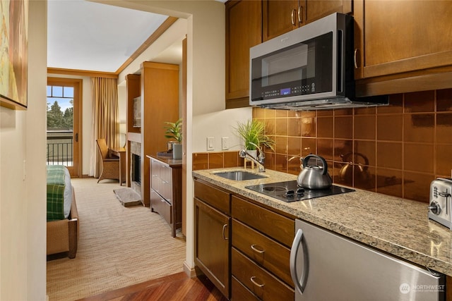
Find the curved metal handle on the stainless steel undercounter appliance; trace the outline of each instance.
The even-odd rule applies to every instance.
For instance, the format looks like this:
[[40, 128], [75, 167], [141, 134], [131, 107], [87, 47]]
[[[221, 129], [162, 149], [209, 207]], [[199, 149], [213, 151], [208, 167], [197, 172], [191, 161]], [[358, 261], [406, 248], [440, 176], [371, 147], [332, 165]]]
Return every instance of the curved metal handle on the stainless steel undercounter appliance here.
[[[297, 271], [297, 254], [300, 245], [303, 249], [303, 274], [301, 277], [298, 276]], [[292, 281], [294, 281], [295, 289], [303, 294], [304, 288], [306, 288], [306, 282], [308, 279], [309, 271], [309, 259], [306, 243], [303, 239], [302, 229], [298, 229], [295, 234], [294, 242], [292, 243], [292, 248], [290, 249], [290, 276], [292, 276]]]

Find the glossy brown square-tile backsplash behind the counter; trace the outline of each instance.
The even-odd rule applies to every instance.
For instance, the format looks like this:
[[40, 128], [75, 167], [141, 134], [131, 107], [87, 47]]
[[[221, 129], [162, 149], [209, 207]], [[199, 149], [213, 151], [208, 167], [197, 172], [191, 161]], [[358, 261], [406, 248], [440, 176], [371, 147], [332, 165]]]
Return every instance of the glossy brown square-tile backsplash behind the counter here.
[[[266, 168], [297, 175], [319, 154], [333, 183], [429, 202], [436, 177], [451, 177], [452, 89], [393, 94], [389, 106], [328, 111], [253, 109], [275, 151]], [[242, 166], [237, 152], [193, 154], [193, 169]], [[426, 209], [427, 214], [427, 209]]]

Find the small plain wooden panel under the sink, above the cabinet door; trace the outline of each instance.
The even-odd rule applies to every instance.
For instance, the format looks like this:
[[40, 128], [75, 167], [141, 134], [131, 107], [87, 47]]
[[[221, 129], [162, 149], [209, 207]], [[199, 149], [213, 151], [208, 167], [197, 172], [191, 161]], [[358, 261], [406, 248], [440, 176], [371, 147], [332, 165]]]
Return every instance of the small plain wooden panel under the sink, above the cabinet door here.
[[225, 214], [230, 214], [230, 194], [195, 180], [195, 197]]

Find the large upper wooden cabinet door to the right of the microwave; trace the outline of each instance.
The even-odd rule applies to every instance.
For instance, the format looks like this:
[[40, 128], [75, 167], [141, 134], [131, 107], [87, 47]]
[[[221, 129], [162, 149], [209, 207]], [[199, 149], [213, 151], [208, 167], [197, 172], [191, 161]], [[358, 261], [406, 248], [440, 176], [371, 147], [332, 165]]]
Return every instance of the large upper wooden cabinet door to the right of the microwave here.
[[355, 78], [452, 65], [451, 16], [451, 1], [356, 0]]

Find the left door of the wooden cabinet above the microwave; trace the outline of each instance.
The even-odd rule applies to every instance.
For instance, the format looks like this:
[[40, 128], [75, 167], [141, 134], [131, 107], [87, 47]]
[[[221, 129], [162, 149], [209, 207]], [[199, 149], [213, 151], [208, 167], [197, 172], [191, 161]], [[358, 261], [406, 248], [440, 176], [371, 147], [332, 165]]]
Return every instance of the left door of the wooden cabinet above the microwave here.
[[295, 30], [299, 26], [299, 19], [304, 20], [299, 16], [299, 13], [304, 12], [304, 7], [298, 5], [298, 0], [264, 0], [262, 6], [263, 41]]

